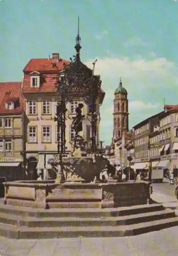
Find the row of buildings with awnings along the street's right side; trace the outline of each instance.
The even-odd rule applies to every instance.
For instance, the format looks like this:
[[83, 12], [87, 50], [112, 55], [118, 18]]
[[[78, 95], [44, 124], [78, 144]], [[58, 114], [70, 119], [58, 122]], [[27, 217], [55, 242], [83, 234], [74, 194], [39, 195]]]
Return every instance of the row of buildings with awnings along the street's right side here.
[[165, 105], [164, 111], [134, 126], [134, 169], [167, 170], [178, 168], [178, 106]]

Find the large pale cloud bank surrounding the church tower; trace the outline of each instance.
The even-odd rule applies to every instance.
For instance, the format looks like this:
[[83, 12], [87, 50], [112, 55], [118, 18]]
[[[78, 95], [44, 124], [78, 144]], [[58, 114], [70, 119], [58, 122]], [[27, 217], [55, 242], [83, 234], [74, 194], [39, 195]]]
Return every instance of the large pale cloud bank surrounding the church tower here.
[[[100, 75], [101, 87], [106, 92], [100, 107], [100, 139], [107, 144], [111, 142], [113, 133], [113, 100], [119, 77], [128, 91], [130, 129], [162, 111], [164, 98], [168, 104], [178, 103], [178, 68], [175, 63], [164, 57], [156, 57], [154, 53], [151, 53], [151, 58], [149, 55], [146, 54], [147, 58], [113, 57], [108, 52], [107, 57], [98, 57], [94, 73]], [[85, 65], [92, 68], [93, 59], [87, 60]]]

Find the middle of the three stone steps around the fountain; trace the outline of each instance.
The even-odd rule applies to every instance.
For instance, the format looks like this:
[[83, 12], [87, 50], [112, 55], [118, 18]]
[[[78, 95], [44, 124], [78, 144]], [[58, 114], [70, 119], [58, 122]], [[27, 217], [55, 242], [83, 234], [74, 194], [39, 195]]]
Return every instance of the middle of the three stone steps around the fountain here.
[[27, 227], [65, 227], [65, 226], [118, 226], [131, 225], [140, 222], [155, 221], [166, 218], [175, 217], [171, 209], [165, 209], [154, 212], [146, 212], [142, 214], [116, 216], [116, 217], [100, 217], [100, 218], [76, 218], [76, 217], [61, 217], [61, 218], [35, 218], [25, 217], [23, 220], [15, 215], [7, 215], [0, 213], [0, 220], [3, 224]]

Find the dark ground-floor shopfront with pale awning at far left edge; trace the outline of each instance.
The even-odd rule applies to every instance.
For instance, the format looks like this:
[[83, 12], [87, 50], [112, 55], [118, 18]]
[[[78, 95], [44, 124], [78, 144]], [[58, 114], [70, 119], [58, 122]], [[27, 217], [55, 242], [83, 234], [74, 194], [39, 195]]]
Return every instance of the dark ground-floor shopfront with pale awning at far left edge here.
[[0, 177], [10, 181], [24, 179], [23, 158], [1, 157]]

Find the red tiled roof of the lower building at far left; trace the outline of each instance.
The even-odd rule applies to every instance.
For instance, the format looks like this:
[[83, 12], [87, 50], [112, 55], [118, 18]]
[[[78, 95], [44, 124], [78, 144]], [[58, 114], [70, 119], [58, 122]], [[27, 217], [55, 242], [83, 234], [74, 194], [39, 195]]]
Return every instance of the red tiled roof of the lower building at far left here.
[[[0, 82], [0, 114], [20, 114], [23, 111], [23, 96], [20, 93], [21, 82]], [[12, 110], [6, 110], [7, 101], [19, 100], [19, 106]]]

